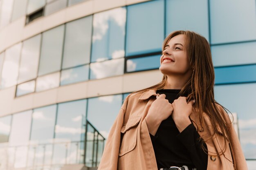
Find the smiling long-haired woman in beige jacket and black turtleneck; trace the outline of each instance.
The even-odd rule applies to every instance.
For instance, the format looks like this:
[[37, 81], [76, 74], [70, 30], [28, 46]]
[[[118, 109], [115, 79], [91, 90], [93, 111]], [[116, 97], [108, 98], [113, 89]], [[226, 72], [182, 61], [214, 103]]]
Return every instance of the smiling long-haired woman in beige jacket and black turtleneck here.
[[214, 99], [207, 40], [170, 33], [160, 64], [160, 83], [126, 97], [98, 170], [246, 170], [234, 127]]

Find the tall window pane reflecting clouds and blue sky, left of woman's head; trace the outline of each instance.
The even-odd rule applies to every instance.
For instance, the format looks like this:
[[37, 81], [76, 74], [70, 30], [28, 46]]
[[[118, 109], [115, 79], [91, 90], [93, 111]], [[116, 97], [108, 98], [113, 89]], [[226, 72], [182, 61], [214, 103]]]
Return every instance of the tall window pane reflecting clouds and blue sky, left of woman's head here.
[[126, 8], [94, 14], [91, 62], [124, 57], [125, 24]]

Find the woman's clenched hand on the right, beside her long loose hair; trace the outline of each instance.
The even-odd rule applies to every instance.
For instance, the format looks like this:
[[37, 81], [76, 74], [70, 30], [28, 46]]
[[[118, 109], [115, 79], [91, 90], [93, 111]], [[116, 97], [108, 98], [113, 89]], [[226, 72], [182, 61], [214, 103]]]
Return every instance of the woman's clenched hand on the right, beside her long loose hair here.
[[187, 97], [180, 96], [172, 103], [172, 118], [180, 132], [182, 132], [182, 130], [191, 124], [189, 115], [192, 113], [192, 106], [195, 103], [195, 100], [189, 101], [189, 103], [187, 103], [186, 99]]

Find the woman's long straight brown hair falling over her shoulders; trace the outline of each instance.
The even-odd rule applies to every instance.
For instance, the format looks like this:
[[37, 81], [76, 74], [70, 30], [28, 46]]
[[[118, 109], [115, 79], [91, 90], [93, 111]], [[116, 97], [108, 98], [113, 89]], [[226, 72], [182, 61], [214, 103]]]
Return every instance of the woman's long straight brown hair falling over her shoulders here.
[[[198, 108], [198, 115], [199, 121], [202, 126], [204, 126], [204, 119], [203, 119], [203, 112], [209, 115], [211, 124], [213, 127], [214, 132], [218, 132], [217, 126], [220, 127], [220, 130], [223, 132], [223, 137], [227, 135], [229, 141], [229, 147], [231, 150], [231, 154], [234, 155], [233, 147], [231, 144], [231, 137], [227, 128], [228, 122], [225, 122], [225, 119], [221, 116], [220, 110], [218, 110], [216, 104], [219, 104], [214, 99], [214, 67], [211, 57], [211, 48], [209, 42], [200, 34], [195, 33], [193, 31], [173, 31], [171, 32], [165, 39], [162, 44], [162, 54], [164, 51], [164, 46], [176, 35], [183, 34], [185, 36], [184, 42], [184, 50], [186, 50], [190, 65], [194, 68], [194, 71], [186, 84], [182, 87], [179, 95], [189, 94], [187, 97], [187, 102], [190, 100], [195, 99], [195, 108]], [[164, 75], [161, 82], [150, 86], [148, 88], [144, 88], [139, 91], [132, 92], [136, 93], [135, 95], [139, 95], [151, 89], [163, 89], [167, 83], [167, 76]], [[213, 104], [216, 103], [216, 104]], [[222, 108], [221, 104], [219, 104]], [[227, 109], [227, 108], [225, 108]], [[226, 110], [225, 110], [226, 111]], [[229, 110], [228, 110], [229, 111]], [[227, 112], [227, 111], [226, 111]], [[229, 111], [230, 112], [230, 111]], [[211, 138], [214, 134], [211, 135]], [[202, 142], [202, 138], [200, 138]], [[222, 150], [221, 153], [218, 152], [218, 155], [224, 154], [226, 147], [226, 140], [225, 141], [225, 148]], [[204, 148], [203, 144], [201, 143], [202, 149], [204, 152], [208, 154], [206, 148]], [[225, 155], [224, 155], [225, 156]], [[234, 169], [236, 170], [236, 162], [233, 158]]]

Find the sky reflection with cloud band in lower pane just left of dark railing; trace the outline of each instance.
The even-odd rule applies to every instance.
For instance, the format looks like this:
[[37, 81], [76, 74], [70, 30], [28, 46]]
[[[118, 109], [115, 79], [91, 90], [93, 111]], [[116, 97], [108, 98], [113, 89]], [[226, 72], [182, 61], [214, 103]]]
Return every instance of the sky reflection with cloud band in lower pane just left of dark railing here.
[[58, 104], [55, 138], [80, 141], [85, 132], [86, 99]]

